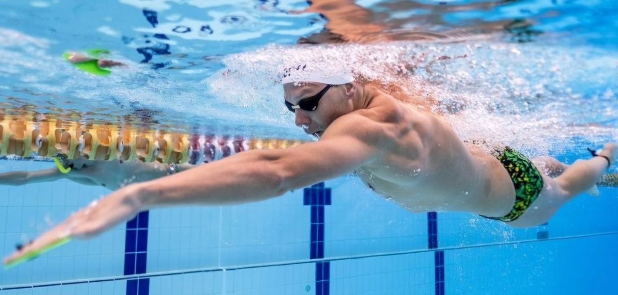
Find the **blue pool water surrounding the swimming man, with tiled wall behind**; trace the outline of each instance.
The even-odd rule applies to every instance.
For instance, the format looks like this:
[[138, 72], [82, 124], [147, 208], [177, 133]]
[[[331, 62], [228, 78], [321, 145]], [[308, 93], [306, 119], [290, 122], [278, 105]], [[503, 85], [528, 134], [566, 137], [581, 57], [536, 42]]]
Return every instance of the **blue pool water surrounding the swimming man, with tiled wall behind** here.
[[[618, 140], [614, 1], [356, 4], [365, 27], [336, 36], [353, 30], [305, 1], [0, 0], [0, 114], [307, 139], [277, 74], [326, 57], [387, 81], [413, 64], [415, 85], [459, 110], [447, 119], [462, 139], [565, 163]], [[88, 48], [127, 66], [98, 77], [61, 57]], [[0, 173], [52, 167], [0, 160]], [[513, 229], [410, 213], [346, 176], [264, 202], [140, 213], [0, 271], [0, 294], [618, 294], [618, 190], [599, 190]], [[106, 194], [0, 186], [1, 252]]]

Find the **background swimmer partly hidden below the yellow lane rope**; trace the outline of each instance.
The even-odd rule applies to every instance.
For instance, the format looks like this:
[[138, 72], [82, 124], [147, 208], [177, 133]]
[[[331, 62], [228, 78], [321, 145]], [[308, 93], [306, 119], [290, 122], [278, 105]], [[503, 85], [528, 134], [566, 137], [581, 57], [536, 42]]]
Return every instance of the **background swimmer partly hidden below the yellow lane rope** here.
[[[57, 168], [38, 171], [0, 173], [0, 186], [25, 186], [38, 182], [68, 179], [87, 186], [103, 186], [117, 190], [135, 182], [150, 181], [195, 167], [195, 165], [167, 165], [142, 161], [90, 161], [80, 156], [75, 160], [62, 158]], [[67, 171], [62, 173], [62, 171]]]

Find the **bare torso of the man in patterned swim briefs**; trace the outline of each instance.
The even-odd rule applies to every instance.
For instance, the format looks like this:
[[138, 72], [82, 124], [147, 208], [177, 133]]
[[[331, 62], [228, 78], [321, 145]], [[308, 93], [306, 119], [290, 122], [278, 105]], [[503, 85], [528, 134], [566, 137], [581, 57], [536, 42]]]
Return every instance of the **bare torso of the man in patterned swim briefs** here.
[[361, 112], [378, 116], [373, 120], [384, 130], [381, 155], [356, 171], [377, 194], [413, 212], [509, 212], [515, 197], [506, 169], [468, 150], [445, 121], [387, 95]]

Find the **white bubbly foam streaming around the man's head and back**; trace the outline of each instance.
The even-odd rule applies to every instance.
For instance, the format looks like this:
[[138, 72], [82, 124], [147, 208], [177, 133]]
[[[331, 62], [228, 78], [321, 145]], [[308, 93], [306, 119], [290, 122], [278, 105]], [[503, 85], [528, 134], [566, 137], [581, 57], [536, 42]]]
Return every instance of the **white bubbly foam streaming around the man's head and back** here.
[[610, 74], [618, 59], [595, 48], [499, 43], [268, 46], [228, 56], [226, 68], [204, 82], [231, 104], [271, 109], [271, 116], [291, 124], [279, 107], [280, 72], [300, 62], [331, 73], [349, 68], [357, 77], [433, 98], [438, 102], [433, 110], [445, 111], [462, 139], [484, 140], [488, 150], [511, 145], [538, 155], [618, 139], [617, 85]]

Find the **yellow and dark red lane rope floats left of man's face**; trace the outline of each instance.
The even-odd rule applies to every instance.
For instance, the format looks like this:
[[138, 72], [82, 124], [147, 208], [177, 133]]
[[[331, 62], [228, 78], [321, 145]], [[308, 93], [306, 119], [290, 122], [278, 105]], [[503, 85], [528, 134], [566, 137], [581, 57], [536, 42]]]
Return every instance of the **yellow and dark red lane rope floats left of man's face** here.
[[0, 121], [0, 156], [64, 155], [88, 160], [139, 160], [160, 163], [208, 163], [244, 150], [288, 148], [301, 140], [245, 139], [226, 135], [166, 133], [54, 119]]

